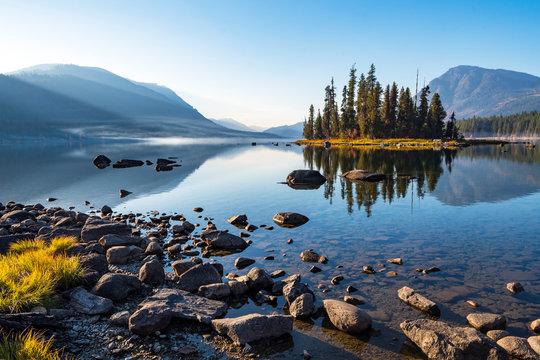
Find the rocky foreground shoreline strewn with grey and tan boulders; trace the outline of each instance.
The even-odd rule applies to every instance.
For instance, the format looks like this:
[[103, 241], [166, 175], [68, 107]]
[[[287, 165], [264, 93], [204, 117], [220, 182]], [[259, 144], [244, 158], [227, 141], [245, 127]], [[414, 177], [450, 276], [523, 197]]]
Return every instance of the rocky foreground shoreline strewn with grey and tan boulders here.
[[[193, 211], [198, 214], [203, 209]], [[294, 319], [310, 317], [325, 317], [339, 331], [355, 336], [374, 331], [370, 315], [358, 306], [363, 299], [353, 294], [352, 287], [344, 299], [318, 305], [299, 274], [269, 273], [260, 267], [242, 276], [224, 274], [216, 255], [242, 252], [251, 243], [245, 239], [257, 227], [245, 215], [234, 216], [228, 222], [244, 230], [244, 235], [236, 236], [218, 230], [212, 218], [197, 216], [206, 221], [202, 227], [181, 214], [117, 214], [108, 206], [86, 214], [41, 204], [0, 204], [2, 252], [21, 239], [70, 236], [77, 244], [68, 253], [79, 256], [85, 269], [81, 285], [58, 294], [55, 308], [0, 315], [0, 327], [44, 329], [55, 336], [55, 345], [63, 347], [65, 355], [78, 359], [257, 358], [264, 356], [269, 344], [287, 341]], [[308, 220], [286, 212], [274, 217], [284, 227]], [[304, 262], [328, 261], [312, 249], [299, 256]], [[389, 262], [401, 265], [403, 259]], [[253, 263], [239, 256], [235, 265], [242, 269]], [[368, 266], [364, 272], [375, 270]], [[336, 277], [332, 284], [341, 280]], [[507, 288], [512, 293], [524, 291], [519, 283]], [[227, 317], [231, 304], [247, 296], [261, 303], [274, 303], [283, 296], [286, 305], [279, 314]], [[426, 314], [426, 319], [401, 323], [401, 329], [410, 346], [430, 359], [506, 359], [509, 355], [540, 359], [540, 320], [530, 324], [536, 336], [520, 338], [504, 331], [504, 316], [475, 312], [467, 317], [471, 327], [458, 327], [437, 321], [439, 306], [415, 290], [404, 287], [396, 296]], [[298, 354], [298, 358], [312, 356], [316, 358], [310, 349]]]

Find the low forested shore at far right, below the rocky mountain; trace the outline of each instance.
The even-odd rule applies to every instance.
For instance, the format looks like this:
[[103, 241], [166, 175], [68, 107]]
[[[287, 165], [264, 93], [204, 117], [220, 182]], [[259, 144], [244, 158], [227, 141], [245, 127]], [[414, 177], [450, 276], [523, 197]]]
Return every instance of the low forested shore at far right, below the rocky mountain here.
[[458, 129], [465, 135], [476, 136], [538, 136], [540, 112], [522, 112], [506, 116], [472, 117], [459, 120]]

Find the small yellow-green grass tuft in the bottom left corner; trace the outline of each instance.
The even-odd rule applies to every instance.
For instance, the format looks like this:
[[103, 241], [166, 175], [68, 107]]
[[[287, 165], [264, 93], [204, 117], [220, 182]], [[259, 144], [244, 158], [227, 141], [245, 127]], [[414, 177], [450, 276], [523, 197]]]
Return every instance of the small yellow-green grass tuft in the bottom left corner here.
[[60, 360], [61, 352], [53, 349], [52, 338], [45, 340], [32, 330], [18, 335], [4, 335], [0, 342], [2, 360]]

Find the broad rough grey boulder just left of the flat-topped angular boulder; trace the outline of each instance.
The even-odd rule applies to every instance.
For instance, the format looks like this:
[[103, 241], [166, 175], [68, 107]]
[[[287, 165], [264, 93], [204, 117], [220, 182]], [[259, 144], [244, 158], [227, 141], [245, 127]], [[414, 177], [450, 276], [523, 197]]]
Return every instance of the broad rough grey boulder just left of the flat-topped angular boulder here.
[[195, 320], [209, 324], [223, 316], [227, 304], [178, 289], [162, 289], [139, 304], [129, 318], [129, 329], [139, 335], [150, 335], [166, 328], [172, 318]]

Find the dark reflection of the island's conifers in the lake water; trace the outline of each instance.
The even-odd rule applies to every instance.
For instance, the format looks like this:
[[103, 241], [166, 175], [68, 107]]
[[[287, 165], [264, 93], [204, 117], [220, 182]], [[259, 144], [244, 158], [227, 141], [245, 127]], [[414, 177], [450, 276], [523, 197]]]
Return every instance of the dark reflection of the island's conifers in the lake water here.
[[[325, 149], [320, 146], [304, 148], [304, 164], [317, 169], [327, 179], [324, 184], [324, 197], [332, 203], [336, 184], [340, 186], [340, 196], [347, 201], [347, 211], [353, 212], [356, 203], [358, 210], [364, 207], [369, 217], [371, 207], [379, 197], [392, 203], [396, 198], [404, 198], [409, 186], [416, 182], [416, 193], [423, 197], [437, 186], [443, 167], [452, 171], [452, 161], [457, 150], [385, 150], [377, 148], [358, 148], [335, 146]], [[341, 178], [344, 172], [361, 169], [386, 175], [381, 182], [351, 182]]]

